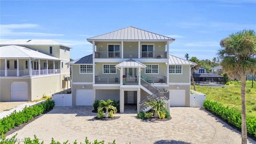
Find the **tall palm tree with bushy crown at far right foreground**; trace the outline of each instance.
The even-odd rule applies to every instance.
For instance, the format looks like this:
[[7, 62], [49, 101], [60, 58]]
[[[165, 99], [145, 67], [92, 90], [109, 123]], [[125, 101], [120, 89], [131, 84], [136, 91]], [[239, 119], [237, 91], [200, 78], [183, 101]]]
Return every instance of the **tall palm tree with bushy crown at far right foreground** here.
[[222, 68], [231, 78], [241, 79], [241, 115], [242, 115], [242, 144], [247, 143], [246, 130], [246, 74], [256, 70], [256, 35], [254, 30], [243, 30], [230, 34], [220, 41], [221, 49], [217, 55], [222, 60]]

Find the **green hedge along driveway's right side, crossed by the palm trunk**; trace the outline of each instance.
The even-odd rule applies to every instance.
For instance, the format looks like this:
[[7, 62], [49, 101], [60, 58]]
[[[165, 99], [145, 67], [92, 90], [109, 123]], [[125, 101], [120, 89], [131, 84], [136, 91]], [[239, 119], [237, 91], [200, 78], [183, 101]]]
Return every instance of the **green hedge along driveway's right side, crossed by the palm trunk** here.
[[[227, 107], [220, 106], [217, 102], [212, 102], [210, 100], [204, 101], [204, 108], [212, 111], [213, 114], [221, 116], [224, 120], [227, 120], [229, 123], [234, 126], [241, 128], [242, 120], [241, 113], [235, 112]], [[256, 137], [256, 118], [246, 118], [247, 132]]]

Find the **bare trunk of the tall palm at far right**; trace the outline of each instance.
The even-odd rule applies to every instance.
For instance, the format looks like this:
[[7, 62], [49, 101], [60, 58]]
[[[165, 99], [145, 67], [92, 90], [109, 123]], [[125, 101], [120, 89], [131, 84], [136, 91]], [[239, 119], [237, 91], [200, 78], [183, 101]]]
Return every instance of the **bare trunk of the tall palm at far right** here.
[[246, 84], [246, 75], [243, 75], [243, 76], [241, 76], [242, 144], [247, 144], [246, 105], [245, 105], [245, 84]]

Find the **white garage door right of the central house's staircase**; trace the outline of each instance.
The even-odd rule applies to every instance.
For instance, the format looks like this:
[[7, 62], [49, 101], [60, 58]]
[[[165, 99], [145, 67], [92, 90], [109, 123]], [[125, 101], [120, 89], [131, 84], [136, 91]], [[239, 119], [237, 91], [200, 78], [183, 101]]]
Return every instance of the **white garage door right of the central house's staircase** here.
[[185, 90], [170, 90], [170, 106], [185, 106]]

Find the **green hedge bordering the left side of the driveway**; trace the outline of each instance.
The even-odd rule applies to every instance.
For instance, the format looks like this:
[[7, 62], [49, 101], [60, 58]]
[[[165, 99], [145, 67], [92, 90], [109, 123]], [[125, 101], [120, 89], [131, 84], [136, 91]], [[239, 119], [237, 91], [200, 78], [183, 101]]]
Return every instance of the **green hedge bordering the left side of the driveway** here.
[[16, 126], [20, 126], [23, 123], [28, 122], [35, 116], [38, 116], [45, 111], [53, 108], [55, 102], [53, 100], [46, 100], [40, 104], [34, 106], [25, 107], [22, 111], [12, 112], [9, 116], [6, 116], [0, 120], [0, 134], [4, 134]]

